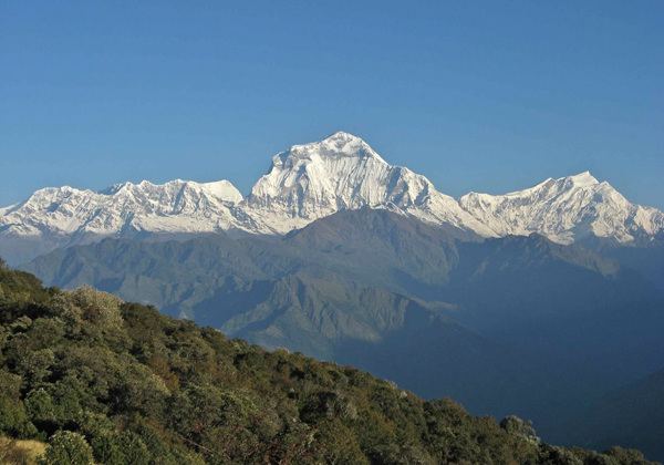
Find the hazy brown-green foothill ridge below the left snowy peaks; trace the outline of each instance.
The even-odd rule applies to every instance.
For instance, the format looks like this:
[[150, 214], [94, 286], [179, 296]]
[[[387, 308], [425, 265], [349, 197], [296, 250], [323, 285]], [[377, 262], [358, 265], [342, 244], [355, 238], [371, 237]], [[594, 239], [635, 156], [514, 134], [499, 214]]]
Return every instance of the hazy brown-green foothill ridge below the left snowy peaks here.
[[226, 279], [268, 279], [238, 242], [211, 235], [185, 242], [104, 239], [38, 258], [24, 266], [65, 289], [94, 283], [123, 299], [191, 317], [193, 306], [214, 296]]

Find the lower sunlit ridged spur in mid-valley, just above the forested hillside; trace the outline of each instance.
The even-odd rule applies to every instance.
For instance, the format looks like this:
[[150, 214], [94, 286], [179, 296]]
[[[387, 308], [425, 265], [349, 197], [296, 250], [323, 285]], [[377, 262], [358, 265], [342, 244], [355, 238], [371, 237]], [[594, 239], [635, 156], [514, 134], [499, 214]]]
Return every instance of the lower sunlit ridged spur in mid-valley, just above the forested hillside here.
[[382, 341], [404, 326], [409, 312], [436, 314], [383, 289], [293, 275], [276, 281], [236, 281], [194, 310], [197, 321], [225, 334], [322, 360], [335, 360], [339, 343]]

